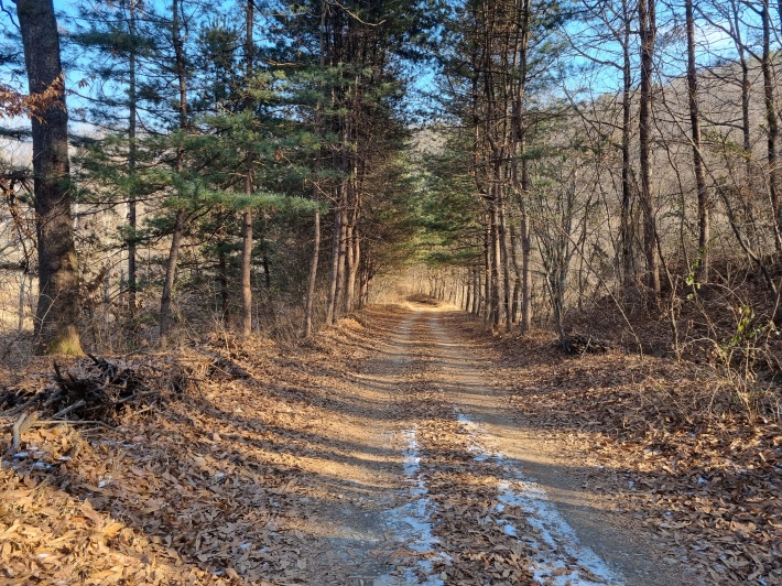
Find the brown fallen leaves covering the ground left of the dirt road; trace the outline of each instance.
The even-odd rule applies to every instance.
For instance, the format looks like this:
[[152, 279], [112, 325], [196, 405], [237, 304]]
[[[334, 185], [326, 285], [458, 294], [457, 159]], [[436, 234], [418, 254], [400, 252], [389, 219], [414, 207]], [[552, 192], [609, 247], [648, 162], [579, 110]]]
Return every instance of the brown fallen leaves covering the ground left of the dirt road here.
[[[370, 354], [361, 330], [128, 358], [165, 401], [124, 410], [118, 432], [35, 428], [12, 454], [0, 420], [0, 584], [312, 584], [316, 538], [298, 527], [329, 496], [302, 474], [306, 430]], [[18, 388], [50, 383], [51, 363], [33, 365]]]

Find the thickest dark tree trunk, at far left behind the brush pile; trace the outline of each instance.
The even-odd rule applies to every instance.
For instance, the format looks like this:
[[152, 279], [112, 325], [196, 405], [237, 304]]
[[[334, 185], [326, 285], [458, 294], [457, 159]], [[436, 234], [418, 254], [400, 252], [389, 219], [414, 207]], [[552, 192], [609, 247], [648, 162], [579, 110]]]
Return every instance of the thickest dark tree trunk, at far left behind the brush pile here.
[[57, 22], [52, 0], [18, 0], [17, 14], [30, 94], [44, 96], [44, 105], [32, 118], [39, 250], [35, 350], [79, 355], [79, 274], [70, 214], [68, 113]]

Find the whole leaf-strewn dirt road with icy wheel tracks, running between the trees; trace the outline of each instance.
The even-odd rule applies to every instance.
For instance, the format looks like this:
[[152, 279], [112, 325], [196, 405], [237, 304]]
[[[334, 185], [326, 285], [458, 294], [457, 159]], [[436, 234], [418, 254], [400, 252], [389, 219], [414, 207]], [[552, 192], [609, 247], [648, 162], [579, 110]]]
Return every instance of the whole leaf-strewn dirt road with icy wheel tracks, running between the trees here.
[[339, 480], [345, 506], [319, 512], [330, 536], [313, 569], [373, 586], [698, 584], [520, 424], [447, 315], [422, 307], [376, 329], [379, 357], [343, 413], [362, 464]]

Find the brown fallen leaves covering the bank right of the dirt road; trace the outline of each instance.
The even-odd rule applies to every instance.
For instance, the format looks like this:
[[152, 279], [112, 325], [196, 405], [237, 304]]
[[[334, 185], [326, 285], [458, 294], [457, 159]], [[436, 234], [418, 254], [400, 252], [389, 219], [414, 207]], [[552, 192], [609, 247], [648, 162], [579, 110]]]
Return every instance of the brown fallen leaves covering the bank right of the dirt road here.
[[671, 564], [695, 565], [715, 584], [782, 584], [776, 421], [748, 421], [708, 366], [566, 358], [544, 335], [495, 348], [520, 421], [569, 446], [563, 456], [591, 469], [591, 489], [653, 528]]

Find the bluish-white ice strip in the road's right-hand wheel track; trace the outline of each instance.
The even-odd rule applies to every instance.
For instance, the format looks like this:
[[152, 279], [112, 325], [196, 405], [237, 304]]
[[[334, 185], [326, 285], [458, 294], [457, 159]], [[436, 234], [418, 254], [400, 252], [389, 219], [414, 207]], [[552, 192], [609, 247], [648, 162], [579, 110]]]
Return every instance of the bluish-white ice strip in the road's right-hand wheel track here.
[[[619, 585], [616, 574], [589, 547], [578, 542], [573, 528], [563, 519], [543, 488], [513, 469], [499, 452], [488, 448], [479, 440], [479, 425], [464, 413], [456, 412], [457, 421], [468, 438], [468, 452], [477, 462], [491, 460], [504, 473], [498, 485], [497, 522], [506, 534], [533, 546], [537, 552], [529, 567], [537, 584], [553, 586]], [[518, 507], [534, 535], [523, 535], [502, 518], [506, 507]]]

